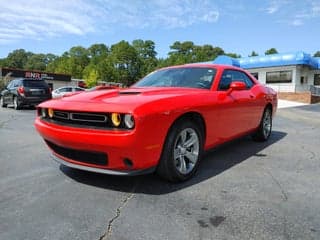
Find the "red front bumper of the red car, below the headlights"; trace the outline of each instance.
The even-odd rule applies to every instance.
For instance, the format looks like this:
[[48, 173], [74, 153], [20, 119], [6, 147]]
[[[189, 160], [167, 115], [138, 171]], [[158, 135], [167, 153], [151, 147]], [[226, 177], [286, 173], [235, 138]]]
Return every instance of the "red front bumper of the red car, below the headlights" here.
[[[35, 120], [35, 127], [47, 142], [55, 160], [78, 169], [135, 175], [154, 170], [161, 155], [162, 140], [155, 140], [153, 132], [145, 129], [116, 131], [73, 128], [48, 123], [39, 117]], [[72, 154], [66, 152], [69, 150]], [[72, 156], [76, 156], [77, 152], [81, 155], [80, 159], [83, 159], [83, 154], [88, 153], [88, 159], [76, 160]], [[93, 156], [105, 155], [105, 164], [90, 162], [91, 153]], [[132, 164], [127, 164], [128, 160]]]

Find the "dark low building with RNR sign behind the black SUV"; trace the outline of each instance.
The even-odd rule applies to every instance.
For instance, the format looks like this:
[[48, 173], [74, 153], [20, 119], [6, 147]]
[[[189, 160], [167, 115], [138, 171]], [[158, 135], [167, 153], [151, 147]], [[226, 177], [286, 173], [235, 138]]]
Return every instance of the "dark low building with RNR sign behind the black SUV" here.
[[71, 75], [48, 73], [36, 70], [22, 70], [14, 68], [0, 68], [0, 76], [2, 79], [9, 81], [14, 78], [33, 78], [45, 79], [51, 89], [56, 89], [66, 85], [76, 85], [76, 82], [71, 81]]

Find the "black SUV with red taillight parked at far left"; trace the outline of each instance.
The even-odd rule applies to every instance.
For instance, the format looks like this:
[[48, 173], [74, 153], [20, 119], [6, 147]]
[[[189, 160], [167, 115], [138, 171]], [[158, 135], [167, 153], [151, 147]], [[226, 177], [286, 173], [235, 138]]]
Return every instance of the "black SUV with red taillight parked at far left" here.
[[0, 105], [12, 104], [15, 109], [36, 106], [51, 99], [49, 85], [41, 79], [17, 78], [11, 80], [0, 94]]

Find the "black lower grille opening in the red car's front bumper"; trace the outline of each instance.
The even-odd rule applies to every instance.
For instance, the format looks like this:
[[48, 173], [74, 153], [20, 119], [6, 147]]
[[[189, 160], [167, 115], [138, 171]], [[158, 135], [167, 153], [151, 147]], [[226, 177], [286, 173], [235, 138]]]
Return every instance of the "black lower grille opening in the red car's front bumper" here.
[[108, 165], [108, 155], [105, 153], [76, 150], [72, 148], [58, 146], [47, 140], [45, 141], [55, 153], [65, 158], [69, 158], [71, 160], [75, 160], [78, 162], [95, 164], [100, 166]]

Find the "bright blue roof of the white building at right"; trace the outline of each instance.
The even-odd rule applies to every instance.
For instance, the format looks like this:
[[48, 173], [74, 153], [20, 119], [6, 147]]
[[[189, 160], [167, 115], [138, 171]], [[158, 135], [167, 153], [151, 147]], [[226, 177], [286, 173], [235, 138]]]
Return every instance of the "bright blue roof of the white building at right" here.
[[302, 51], [243, 58], [218, 56], [213, 63], [232, 65], [244, 69], [279, 67], [288, 65], [307, 65], [313, 69], [320, 69], [320, 58], [312, 57], [310, 54]]

